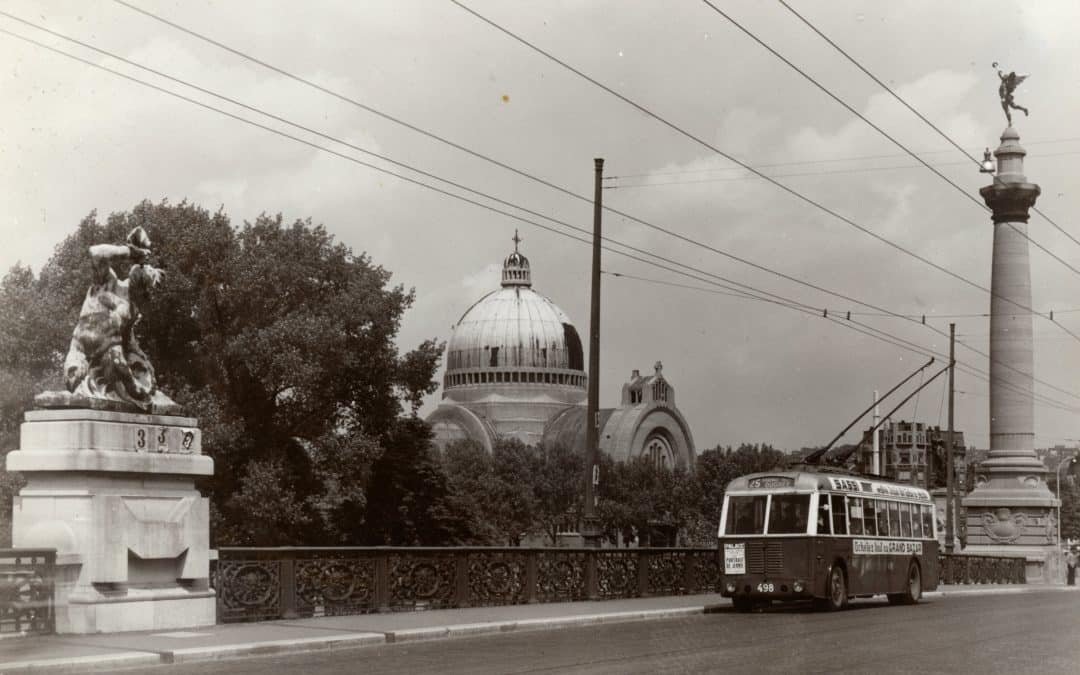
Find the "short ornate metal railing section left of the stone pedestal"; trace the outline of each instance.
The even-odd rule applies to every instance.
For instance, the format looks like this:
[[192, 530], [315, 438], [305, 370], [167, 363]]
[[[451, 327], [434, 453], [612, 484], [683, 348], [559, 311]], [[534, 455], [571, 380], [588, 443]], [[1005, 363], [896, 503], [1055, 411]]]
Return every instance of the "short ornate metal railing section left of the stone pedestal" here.
[[0, 634], [56, 632], [54, 549], [0, 549]]

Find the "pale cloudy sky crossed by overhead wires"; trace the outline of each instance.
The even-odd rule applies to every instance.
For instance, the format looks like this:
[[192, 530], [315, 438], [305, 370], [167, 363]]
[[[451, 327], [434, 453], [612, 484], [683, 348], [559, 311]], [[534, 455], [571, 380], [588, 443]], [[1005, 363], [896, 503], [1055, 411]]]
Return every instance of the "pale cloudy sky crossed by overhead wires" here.
[[[590, 197], [606, 159], [605, 204], [785, 275], [919, 316], [867, 316], [813, 291], [607, 213], [605, 234], [701, 270], [706, 281], [605, 253], [602, 405], [634, 368], [660, 360], [699, 448], [827, 442], [927, 356], [820, 316], [852, 319], [946, 353], [985, 352], [989, 296], [785, 193], [627, 103], [499, 32], [449, 0], [134, 4], [415, 127]], [[462, 0], [671, 124], [919, 256], [989, 287], [987, 213], [696, 0]], [[1080, 4], [983, 0], [792, 6], [870, 72], [981, 157], [1004, 126], [991, 63], [1029, 72], [1016, 100], [1027, 175], [1040, 210], [1080, 239]], [[852, 108], [977, 198], [987, 183], [887, 92], [779, 2], [717, 3]], [[551, 220], [372, 159], [378, 152], [572, 226], [592, 206], [201, 41], [116, 2], [11, 0], [0, 11], [227, 95], [310, 131], [261, 117], [0, 16], [0, 28], [137, 77], [336, 152], [403, 173], [555, 230]], [[521, 229], [537, 291], [584, 335], [589, 247], [297, 140], [0, 33], [0, 269], [39, 269], [90, 211], [141, 199], [219, 206], [234, 222], [258, 214], [310, 217], [415, 286], [400, 343], [446, 339], [470, 303], [498, 285]], [[1017, 113], [1018, 114], [1018, 113]], [[333, 139], [315, 135], [325, 134]], [[1070, 177], [1071, 176], [1071, 177]], [[571, 232], [575, 235], [579, 233]], [[1032, 240], [1080, 267], [1080, 245], [1032, 215]], [[615, 244], [612, 244], [615, 246]], [[616, 246], [617, 247], [617, 246]], [[673, 267], [671, 264], [662, 264]], [[1032, 251], [1034, 307], [1080, 333], [1080, 279]], [[812, 308], [813, 315], [717, 293], [716, 276]], [[658, 283], [661, 282], [661, 283]], [[684, 288], [679, 284], [699, 289]], [[700, 289], [704, 288], [704, 291]], [[710, 289], [711, 288], [711, 289]], [[721, 292], [727, 293], [727, 292]], [[1069, 311], [1072, 310], [1072, 311]], [[926, 315], [927, 326], [921, 325]], [[954, 315], [960, 315], [954, 318]], [[846, 323], [846, 321], [845, 321]], [[1080, 437], [1080, 341], [1036, 319], [1036, 431], [1041, 446]], [[957, 428], [986, 447], [988, 361], [958, 347]], [[940, 359], [941, 363], [943, 360]], [[944, 378], [941, 378], [944, 380]], [[904, 419], [945, 424], [931, 384]], [[431, 409], [438, 394], [424, 410]], [[849, 440], [854, 438], [854, 433]]]

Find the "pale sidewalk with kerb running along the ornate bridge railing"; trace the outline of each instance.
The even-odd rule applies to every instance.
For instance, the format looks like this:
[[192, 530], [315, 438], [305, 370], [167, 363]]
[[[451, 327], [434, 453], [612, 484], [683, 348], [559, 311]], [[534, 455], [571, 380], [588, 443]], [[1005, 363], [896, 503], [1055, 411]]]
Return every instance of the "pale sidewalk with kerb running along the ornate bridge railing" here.
[[[1075, 590], [1080, 590], [1080, 586], [940, 586], [926, 596]], [[84, 673], [251, 654], [343, 649], [508, 631], [687, 617], [700, 615], [706, 607], [724, 610], [729, 606], [730, 602], [718, 594], [705, 594], [320, 617], [161, 633], [13, 636], [0, 639], [0, 673]]]

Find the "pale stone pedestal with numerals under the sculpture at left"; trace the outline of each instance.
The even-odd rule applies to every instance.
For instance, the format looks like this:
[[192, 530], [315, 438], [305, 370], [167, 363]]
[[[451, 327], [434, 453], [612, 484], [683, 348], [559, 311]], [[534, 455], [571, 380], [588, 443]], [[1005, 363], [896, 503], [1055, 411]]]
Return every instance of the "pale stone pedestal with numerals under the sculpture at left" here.
[[212, 625], [210, 503], [214, 473], [197, 420], [93, 409], [26, 414], [8, 470], [16, 548], [58, 554], [58, 633]]

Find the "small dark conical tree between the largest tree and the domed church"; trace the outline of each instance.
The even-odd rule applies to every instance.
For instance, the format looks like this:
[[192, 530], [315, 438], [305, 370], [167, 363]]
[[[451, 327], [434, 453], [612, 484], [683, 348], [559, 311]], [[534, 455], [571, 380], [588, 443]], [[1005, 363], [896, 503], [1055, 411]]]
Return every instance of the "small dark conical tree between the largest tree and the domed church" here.
[[469, 514], [459, 510], [420, 419], [397, 423], [367, 487], [364, 541], [373, 545], [447, 546], [469, 542]]

